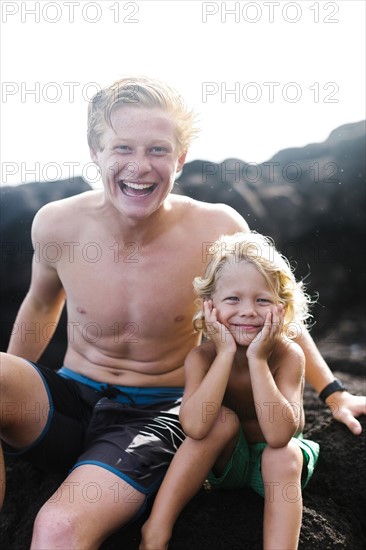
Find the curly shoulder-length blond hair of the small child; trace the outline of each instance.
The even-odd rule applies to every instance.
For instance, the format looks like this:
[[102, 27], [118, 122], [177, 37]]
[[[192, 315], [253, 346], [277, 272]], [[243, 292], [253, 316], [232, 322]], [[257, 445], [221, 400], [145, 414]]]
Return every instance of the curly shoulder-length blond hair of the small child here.
[[195, 277], [193, 286], [199, 301], [199, 310], [194, 315], [193, 325], [207, 336], [202, 300], [210, 299], [214, 294], [218, 279], [226, 265], [248, 262], [266, 279], [276, 302], [285, 308], [284, 330], [286, 335], [294, 338], [299, 335], [301, 327], [308, 325], [312, 317], [309, 307], [313, 303], [306, 294], [302, 281], [296, 281], [293, 268], [288, 259], [275, 247], [270, 237], [255, 231], [223, 235], [211, 246], [211, 259], [203, 277]]

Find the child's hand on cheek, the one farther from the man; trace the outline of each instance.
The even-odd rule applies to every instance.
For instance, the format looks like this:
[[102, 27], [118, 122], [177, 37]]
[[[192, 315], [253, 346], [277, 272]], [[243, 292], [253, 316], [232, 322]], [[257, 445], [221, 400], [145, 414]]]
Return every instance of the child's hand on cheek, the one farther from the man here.
[[283, 306], [275, 306], [266, 315], [262, 330], [252, 340], [247, 349], [248, 359], [265, 359], [281, 336], [284, 322]]

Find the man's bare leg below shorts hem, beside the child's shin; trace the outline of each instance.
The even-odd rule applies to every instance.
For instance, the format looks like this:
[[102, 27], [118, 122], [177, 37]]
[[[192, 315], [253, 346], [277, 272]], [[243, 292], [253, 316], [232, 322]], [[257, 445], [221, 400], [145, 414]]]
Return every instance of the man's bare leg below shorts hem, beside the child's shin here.
[[78, 466], [39, 511], [34, 550], [93, 550], [140, 510], [145, 495], [112, 472]]

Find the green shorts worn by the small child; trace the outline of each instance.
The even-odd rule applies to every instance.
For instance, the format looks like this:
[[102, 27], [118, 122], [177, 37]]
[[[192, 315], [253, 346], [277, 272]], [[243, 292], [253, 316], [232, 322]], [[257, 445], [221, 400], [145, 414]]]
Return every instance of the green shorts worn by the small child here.
[[[319, 456], [319, 445], [310, 439], [303, 439], [300, 434], [292, 441], [300, 447], [304, 466], [301, 475], [301, 487], [304, 488], [310, 480]], [[218, 489], [239, 489], [251, 487], [264, 497], [264, 485], [261, 473], [262, 454], [267, 443], [249, 444], [243, 430], [240, 430], [239, 440], [235, 450], [227, 463], [223, 474], [216, 477], [210, 472], [207, 478], [209, 486]]]

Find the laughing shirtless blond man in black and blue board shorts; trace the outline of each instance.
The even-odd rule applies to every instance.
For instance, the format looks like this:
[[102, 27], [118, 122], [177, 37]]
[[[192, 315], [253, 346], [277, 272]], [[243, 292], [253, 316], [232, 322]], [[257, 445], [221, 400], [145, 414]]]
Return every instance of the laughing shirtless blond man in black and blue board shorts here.
[[[183, 363], [198, 344], [191, 281], [207, 243], [248, 230], [228, 206], [170, 194], [194, 129], [164, 84], [115, 83], [91, 102], [88, 124], [104, 189], [36, 215], [32, 281], [16, 319], [25, 330], [1, 358], [4, 450], [71, 469], [37, 516], [37, 550], [98, 548], [158, 488], [184, 438]], [[55, 373], [29, 361], [47, 346], [65, 300], [68, 348]], [[307, 333], [300, 344], [320, 392], [334, 377]], [[362, 398], [337, 391], [330, 400], [334, 416], [360, 433], [353, 416], [365, 412]], [[85, 498], [90, 487], [95, 498]]]

